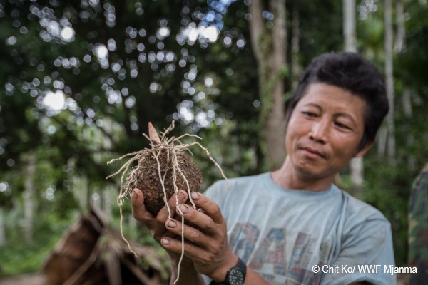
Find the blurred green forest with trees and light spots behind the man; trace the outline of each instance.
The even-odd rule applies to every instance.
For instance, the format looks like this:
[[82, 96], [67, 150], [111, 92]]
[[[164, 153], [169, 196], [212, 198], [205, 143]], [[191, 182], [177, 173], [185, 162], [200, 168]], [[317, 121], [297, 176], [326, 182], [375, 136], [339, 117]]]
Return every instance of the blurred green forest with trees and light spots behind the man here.
[[[149, 121], [199, 135], [227, 177], [277, 167], [302, 68], [342, 50], [379, 67], [391, 111], [337, 182], [385, 214], [406, 264], [428, 157], [427, 15], [426, 0], [1, 0], [0, 276], [39, 270], [89, 205], [118, 226], [106, 162], [148, 147]], [[220, 174], [193, 154], [205, 189]], [[124, 207], [128, 237], [150, 243]]]

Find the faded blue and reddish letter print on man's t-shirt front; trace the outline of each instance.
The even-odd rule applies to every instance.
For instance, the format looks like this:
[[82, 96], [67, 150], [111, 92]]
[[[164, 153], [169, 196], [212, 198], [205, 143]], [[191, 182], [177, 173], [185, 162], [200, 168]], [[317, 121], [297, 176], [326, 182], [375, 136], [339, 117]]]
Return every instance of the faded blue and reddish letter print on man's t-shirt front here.
[[[250, 223], [238, 223], [234, 226], [229, 241], [233, 252], [269, 284], [319, 283], [320, 274], [314, 274], [310, 270], [313, 265], [314, 253], [310, 244], [310, 234], [300, 232], [297, 235], [290, 254], [289, 264], [287, 264], [285, 228], [270, 229], [267, 235], [262, 237], [262, 242], [255, 248], [255, 243], [260, 238], [260, 229]], [[331, 247], [325, 247], [325, 244], [322, 247], [322, 255], [327, 254], [328, 256]], [[325, 252], [325, 249], [329, 252]], [[253, 255], [251, 256], [251, 254]]]

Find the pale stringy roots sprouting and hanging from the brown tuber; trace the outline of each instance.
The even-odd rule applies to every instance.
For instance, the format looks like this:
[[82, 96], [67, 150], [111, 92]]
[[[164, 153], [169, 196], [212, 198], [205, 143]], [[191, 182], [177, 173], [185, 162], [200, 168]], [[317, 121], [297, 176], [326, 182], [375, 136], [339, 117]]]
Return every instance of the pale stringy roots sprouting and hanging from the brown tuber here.
[[[180, 177], [183, 178], [185, 185], [187, 187], [188, 199], [190, 200], [190, 203], [192, 204], [193, 208], [196, 209], [196, 205], [193, 202], [193, 199], [191, 197], [190, 184], [189, 184], [187, 178], [185, 177], [183, 170], [181, 170], [181, 168], [180, 168], [180, 164], [178, 162], [178, 155], [182, 155], [183, 152], [189, 152], [190, 155], [193, 155], [193, 153], [189, 150], [189, 147], [197, 146], [200, 149], [205, 151], [205, 154], [207, 155], [207, 157], [211, 160], [211, 162], [214, 163], [214, 165], [218, 168], [218, 170], [220, 170], [222, 177], [225, 179], [225, 181], [227, 183], [228, 183], [228, 179], [226, 178], [226, 176], [225, 176], [222, 168], [220, 167], [220, 165], [218, 165], [218, 163], [213, 159], [213, 157], [211, 157], [210, 152], [208, 152], [208, 150], [205, 147], [200, 145], [199, 142], [190, 142], [188, 144], [185, 144], [185, 143], [180, 141], [186, 137], [198, 138], [199, 140], [201, 140], [201, 138], [198, 137], [198, 135], [184, 134], [184, 135], [180, 135], [178, 138], [174, 138], [174, 137], [167, 138], [166, 135], [168, 135], [168, 133], [170, 133], [173, 130], [173, 128], [174, 128], [174, 121], [162, 133], [160, 142], [158, 142], [158, 141], [153, 142], [153, 140], [151, 140], [151, 138], [149, 138], [148, 135], [143, 134], [143, 136], [151, 142], [151, 148], [150, 149], [145, 148], [143, 150], [139, 150], [136, 152], [127, 153], [126, 155], [122, 155], [121, 157], [118, 157], [116, 159], [108, 161], [107, 164], [111, 164], [113, 162], [123, 160], [123, 158], [131, 157], [128, 159], [128, 161], [126, 161], [119, 168], [118, 171], [109, 175], [108, 177], [106, 177], [106, 179], [113, 177], [113, 176], [116, 176], [122, 172], [121, 187], [120, 187], [120, 192], [119, 192], [119, 195], [117, 198], [117, 204], [119, 206], [120, 214], [121, 214], [121, 235], [122, 235], [122, 239], [126, 242], [126, 244], [128, 244], [128, 248], [131, 250], [131, 252], [133, 252], [134, 255], [136, 255], [136, 253], [131, 249], [131, 245], [129, 244], [126, 237], [123, 236], [123, 214], [122, 214], [123, 200], [126, 199], [126, 197], [128, 197], [128, 195], [131, 195], [132, 189], [129, 189], [130, 185], [133, 185], [133, 183], [135, 182], [136, 176], [140, 172], [141, 167], [143, 167], [143, 163], [145, 162], [144, 161], [145, 157], [154, 157], [156, 160], [157, 168], [158, 168], [158, 177], [159, 177], [159, 180], [161, 182], [161, 186], [162, 186], [162, 190], [163, 190], [163, 201], [165, 202], [165, 206], [168, 209], [168, 218], [172, 219], [173, 214], [171, 213], [171, 209], [170, 209], [170, 206], [168, 204], [168, 197], [167, 197], [167, 192], [165, 189], [166, 172], [165, 172], [165, 175], [163, 175], [163, 177], [162, 177], [161, 162], [159, 160], [161, 152], [166, 152], [167, 161], [170, 162], [172, 167], [173, 167], [173, 187], [174, 187], [174, 194], [175, 194], [175, 207], [176, 207], [176, 209], [178, 209], [178, 212], [180, 212], [180, 214], [181, 214], [181, 226], [182, 226], [181, 227], [182, 228], [182, 232], [181, 232], [182, 249], [181, 249], [180, 261], [178, 261], [178, 272], [177, 272], [177, 279], [174, 281], [174, 284], [175, 284], [178, 281], [178, 279], [180, 278], [180, 265], [181, 265], [181, 261], [183, 260], [183, 257], [184, 257], [184, 242], [185, 242], [185, 240], [184, 240], [184, 222], [185, 222], [184, 221], [184, 215], [183, 215], [183, 212], [181, 212], [181, 209], [178, 207], [178, 195], [177, 194], [178, 194], [179, 189], [178, 189], [178, 186], [176, 183], [178, 175], [180, 175]], [[128, 178], [125, 180], [125, 175], [128, 173], [129, 168], [131, 167], [131, 165], [133, 165], [133, 162], [136, 162], [136, 161], [138, 162], [138, 165], [136, 165], [136, 167], [133, 167], [133, 169], [131, 170], [131, 173], [128, 175]], [[228, 188], [229, 188], [229, 186], [228, 186]]]

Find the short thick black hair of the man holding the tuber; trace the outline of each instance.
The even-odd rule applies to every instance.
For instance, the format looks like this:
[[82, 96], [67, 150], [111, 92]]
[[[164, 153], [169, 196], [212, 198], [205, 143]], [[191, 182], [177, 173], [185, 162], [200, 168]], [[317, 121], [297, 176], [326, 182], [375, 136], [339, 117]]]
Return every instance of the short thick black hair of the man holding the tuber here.
[[314, 58], [300, 76], [295, 92], [287, 101], [286, 123], [310, 83], [327, 83], [349, 90], [366, 102], [364, 135], [357, 150], [374, 142], [377, 130], [387, 115], [389, 104], [379, 70], [358, 53], [324, 53]]

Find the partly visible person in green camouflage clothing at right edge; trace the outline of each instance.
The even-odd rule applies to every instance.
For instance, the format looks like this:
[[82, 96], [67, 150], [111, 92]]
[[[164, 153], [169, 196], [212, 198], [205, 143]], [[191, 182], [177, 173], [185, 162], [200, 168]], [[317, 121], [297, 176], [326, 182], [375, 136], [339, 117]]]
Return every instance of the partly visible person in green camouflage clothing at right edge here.
[[409, 266], [417, 273], [410, 284], [428, 284], [428, 164], [414, 179], [409, 203]]

